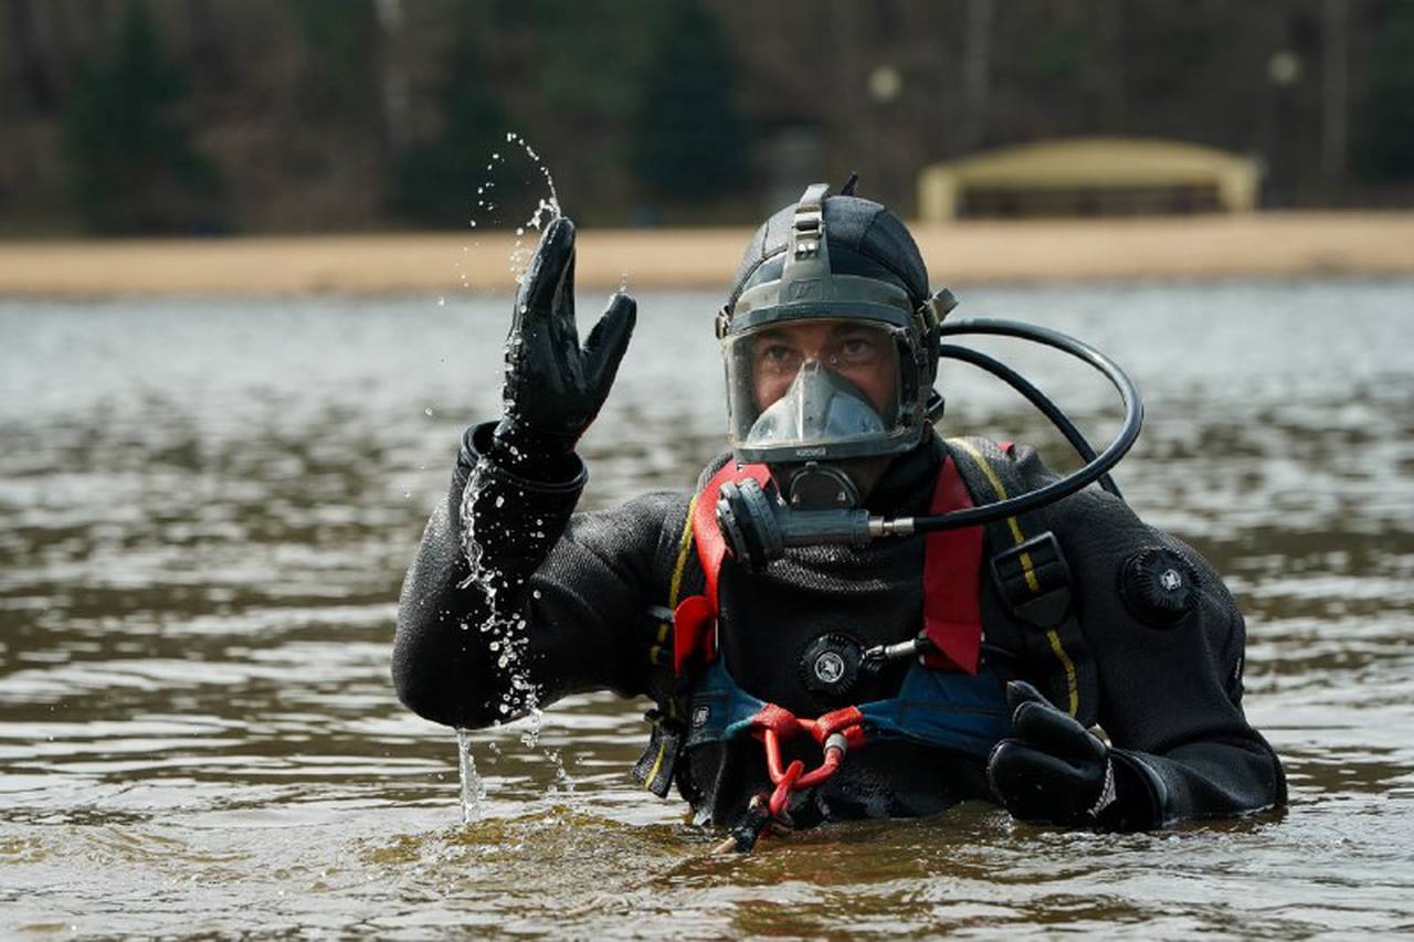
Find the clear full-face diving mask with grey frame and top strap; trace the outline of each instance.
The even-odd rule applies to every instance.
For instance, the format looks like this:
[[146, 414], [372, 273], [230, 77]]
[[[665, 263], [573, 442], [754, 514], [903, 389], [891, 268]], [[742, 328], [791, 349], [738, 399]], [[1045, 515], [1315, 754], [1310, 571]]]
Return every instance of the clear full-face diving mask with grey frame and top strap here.
[[[905, 453], [929, 424], [940, 296], [919, 306], [885, 277], [833, 272], [824, 194], [816, 184], [792, 209], [779, 277], [748, 281], [717, 320], [732, 450], [769, 464], [782, 485], [802, 470], [847, 482], [853, 468], [878, 464], [858, 460]], [[861, 488], [790, 489], [783, 496], [805, 508], [819, 506], [816, 491], [853, 505]]]

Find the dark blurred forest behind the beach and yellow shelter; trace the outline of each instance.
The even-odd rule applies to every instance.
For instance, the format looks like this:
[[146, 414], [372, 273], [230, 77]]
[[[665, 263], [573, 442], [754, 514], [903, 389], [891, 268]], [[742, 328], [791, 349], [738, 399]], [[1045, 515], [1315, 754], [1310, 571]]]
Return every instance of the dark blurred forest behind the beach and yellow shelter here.
[[1257, 156], [1267, 207], [1414, 205], [1414, 0], [0, 6], [7, 236], [467, 226], [508, 132], [598, 225], [851, 170], [908, 212], [929, 163], [1076, 134]]

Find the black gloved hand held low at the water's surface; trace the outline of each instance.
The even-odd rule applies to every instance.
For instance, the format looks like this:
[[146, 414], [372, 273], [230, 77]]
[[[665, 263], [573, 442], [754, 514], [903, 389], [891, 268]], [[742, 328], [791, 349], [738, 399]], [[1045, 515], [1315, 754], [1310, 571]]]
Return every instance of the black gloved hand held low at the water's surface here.
[[1106, 825], [1116, 802], [1110, 747], [1024, 680], [1007, 685], [1014, 738], [987, 758], [987, 781], [1012, 816], [1052, 825]]

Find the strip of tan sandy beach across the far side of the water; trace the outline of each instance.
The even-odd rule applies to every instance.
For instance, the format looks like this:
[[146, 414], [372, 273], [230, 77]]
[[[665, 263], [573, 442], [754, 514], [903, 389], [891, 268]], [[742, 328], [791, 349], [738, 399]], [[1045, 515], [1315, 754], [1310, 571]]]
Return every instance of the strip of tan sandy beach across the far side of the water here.
[[[533, 233], [532, 233], [533, 235]], [[1414, 273], [1414, 214], [1253, 214], [915, 228], [935, 283]], [[585, 289], [724, 289], [748, 229], [581, 231]], [[0, 242], [0, 296], [505, 291], [510, 233]]]

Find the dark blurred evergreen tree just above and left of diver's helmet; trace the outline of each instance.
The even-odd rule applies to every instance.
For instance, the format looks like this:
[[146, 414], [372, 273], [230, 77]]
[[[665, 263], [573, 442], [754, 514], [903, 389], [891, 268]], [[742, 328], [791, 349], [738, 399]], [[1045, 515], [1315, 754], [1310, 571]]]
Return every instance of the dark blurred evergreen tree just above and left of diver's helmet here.
[[658, 4], [629, 126], [629, 167], [653, 197], [703, 204], [740, 185], [749, 132], [721, 24], [699, 0]]

